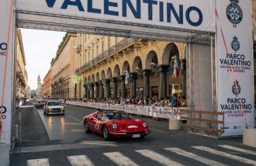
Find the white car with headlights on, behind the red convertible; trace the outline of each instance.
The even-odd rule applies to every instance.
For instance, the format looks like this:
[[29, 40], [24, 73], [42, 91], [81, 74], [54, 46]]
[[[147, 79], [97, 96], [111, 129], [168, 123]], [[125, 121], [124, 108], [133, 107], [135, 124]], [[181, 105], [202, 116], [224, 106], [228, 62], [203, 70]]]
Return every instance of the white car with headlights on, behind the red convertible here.
[[43, 113], [46, 115], [65, 115], [65, 107], [59, 101], [50, 101], [43, 107]]

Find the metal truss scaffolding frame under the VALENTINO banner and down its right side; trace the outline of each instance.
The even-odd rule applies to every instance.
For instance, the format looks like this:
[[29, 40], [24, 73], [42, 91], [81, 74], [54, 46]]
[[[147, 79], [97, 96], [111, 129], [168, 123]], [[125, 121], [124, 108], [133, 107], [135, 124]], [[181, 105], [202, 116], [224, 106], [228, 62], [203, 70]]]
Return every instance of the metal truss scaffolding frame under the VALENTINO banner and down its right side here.
[[[206, 45], [211, 46], [211, 67], [212, 67], [212, 104], [213, 111], [217, 111], [217, 87], [216, 87], [216, 62], [215, 62], [215, 33], [195, 31], [191, 29], [178, 29], [172, 27], [162, 27], [156, 25], [138, 25], [135, 23], [128, 22], [116, 22], [114, 20], [97, 20], [91, 18], [79, 18], [68, 15], [57, 15], [51, 13], [41, 13], [36, 11], [21, 11], [16, 10], [17, 13], [16, 27], [28, 28], [28, 29], [43, 29], [52, 31], [65, 31], [65, 32], [75, 32], [75, 33], [88, 33], [88, 34], [100, 34], [107, 36], [122, 36], [126, 38], [135, 39], [149, 39], [149, 40], [161, 40], [161, 41], [173, 41], [180, 43], [187, 43], [187, 48], [185, 51], [187, 59], [187, 103], [188, 109], [195, 109], [194, 101], [194, 79], [195, 79], [195, 45]], [[39, 19], [42, 18], [42, 19]], [[70, 22], [67, 22], [69, 20]], [[92, 22], [97, 22], [97, 24], [108, 25], [106, 27], [93, 26]], [[115, 27], [109, 27], [109, 25], [119, 25], [126, 26], [126, 29], [120, 29]], [[130, 28], [129, 28], [130, 27]], [[159, 31], [161, 29], [161, 31]], [[214, 36], [214, 37], [213, 37]], [[196, 118], [191, 115], [192, 118]], [[212, 120], [217, 120], [217, 116], [214, 114]], [[196, 122], [192, 122], [193, 125], [198, 125]], [[218, 126], [211, 124], [214, 129]], [[208, 137], [219, 137], [214, 133], [204, 133], [203, 130], [187, 128], [187, 132], [194, 134], [203, 134]]]

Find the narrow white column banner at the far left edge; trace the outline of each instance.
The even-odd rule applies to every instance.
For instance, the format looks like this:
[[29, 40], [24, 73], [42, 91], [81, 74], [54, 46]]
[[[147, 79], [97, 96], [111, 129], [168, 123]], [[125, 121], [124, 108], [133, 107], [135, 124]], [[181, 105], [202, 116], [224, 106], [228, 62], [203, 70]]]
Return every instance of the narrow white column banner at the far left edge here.
[[0, 5], [0, 139], [11, 143], [11, 83], [13, 60], [13, 1]]

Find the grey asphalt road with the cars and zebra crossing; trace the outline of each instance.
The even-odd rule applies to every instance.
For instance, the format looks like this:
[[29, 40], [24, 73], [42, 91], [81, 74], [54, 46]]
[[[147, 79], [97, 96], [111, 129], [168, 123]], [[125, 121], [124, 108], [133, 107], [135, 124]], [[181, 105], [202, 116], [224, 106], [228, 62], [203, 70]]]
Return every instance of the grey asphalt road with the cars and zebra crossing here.
[[80, 123], [93, 110], [65, 106], [65, 116], [45, 116], [32, 103], [20, 108], [22, 151], [11, 154], [11, 166], [82, 165], [256, 165], [256, 147], [242, 139], [215, 140], [168, 130], [167, 121], [144, 118], [151, 134], [144, 139], [105, 141], [85, 134]]

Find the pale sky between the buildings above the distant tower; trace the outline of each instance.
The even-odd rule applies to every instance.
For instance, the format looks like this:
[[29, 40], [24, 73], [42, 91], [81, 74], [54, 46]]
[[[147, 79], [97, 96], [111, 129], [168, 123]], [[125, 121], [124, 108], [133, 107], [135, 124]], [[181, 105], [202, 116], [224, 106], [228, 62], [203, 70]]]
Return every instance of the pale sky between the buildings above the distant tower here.
[[25, 51], [28, 85], [31, 90], [37, 88], [37, 78], [41, 82], [50, 69], [50, 62], [55, 57], [58, 46], [65, 32], [53, 32], [35, 29], [21, 29]]

